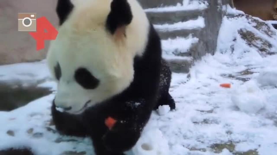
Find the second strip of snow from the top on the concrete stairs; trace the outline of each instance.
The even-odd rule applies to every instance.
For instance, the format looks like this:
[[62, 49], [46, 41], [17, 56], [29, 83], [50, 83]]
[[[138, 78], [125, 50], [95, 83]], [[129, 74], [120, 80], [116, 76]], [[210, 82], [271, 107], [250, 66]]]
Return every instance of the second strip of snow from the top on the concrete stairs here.
[[174, 24], [154, 25], [155, 29], [159, 31], [174, 31], [174, 30], [192, 30], [205, 27], [205, 20], [203, 17], [198, 17], [196, 20], [188, 20], [186, 22], [178, 22]]

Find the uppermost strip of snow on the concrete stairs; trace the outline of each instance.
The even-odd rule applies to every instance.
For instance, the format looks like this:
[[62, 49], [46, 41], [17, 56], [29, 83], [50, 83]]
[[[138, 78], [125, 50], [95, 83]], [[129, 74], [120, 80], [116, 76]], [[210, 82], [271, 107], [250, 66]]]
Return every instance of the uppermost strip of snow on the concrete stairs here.
[[182, 4], [178, 3], [176, 6], [158, 7], [145, 9], [145, 12], [171, 12], [182, 10], [203, 10], [208, 7], [207, 2], [184, 0]]

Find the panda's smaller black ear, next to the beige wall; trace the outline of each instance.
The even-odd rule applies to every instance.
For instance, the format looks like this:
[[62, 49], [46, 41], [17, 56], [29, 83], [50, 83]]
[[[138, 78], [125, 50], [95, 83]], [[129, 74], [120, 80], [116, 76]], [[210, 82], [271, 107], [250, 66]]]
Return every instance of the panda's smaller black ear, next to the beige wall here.
[[66, 18], [72, 11], [74, 5], [70, 0], [58, 0], [56, 12], [59, 17], [59, 24], [62, 25], [65, 22]]

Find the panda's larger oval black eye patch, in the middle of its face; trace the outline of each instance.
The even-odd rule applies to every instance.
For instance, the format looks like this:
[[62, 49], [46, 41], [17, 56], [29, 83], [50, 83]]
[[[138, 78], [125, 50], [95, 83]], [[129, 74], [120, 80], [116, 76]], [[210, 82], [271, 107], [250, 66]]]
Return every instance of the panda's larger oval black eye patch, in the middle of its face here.
[[77, 69], [74, 78], [85, 89], [95, 89], [100, 82], [85, 68]]

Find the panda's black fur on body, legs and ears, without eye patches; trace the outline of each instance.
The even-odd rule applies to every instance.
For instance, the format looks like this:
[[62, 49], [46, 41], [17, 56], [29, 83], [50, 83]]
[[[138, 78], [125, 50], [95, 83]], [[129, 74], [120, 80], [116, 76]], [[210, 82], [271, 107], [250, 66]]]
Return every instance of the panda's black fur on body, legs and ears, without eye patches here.
[[[65, 6], [72, 7], [70, 0], [59, 0], [60, 24], [72, 10]], [[111, 33], [132, 20], [126, 0], [114, 0], [111, 10], [106, 25]], [[145, 52], [134, 58], [134, 80], [130, 86], [78, 115], [57, 111], [53, 101], [51, 110], [57, 130], [66, 135], [91, 137], [97, 155], [123, 155], [136, 144], [153, 109], [164, 104], [175, 109], [169, 94], [171, 71], [162, 59], [161, 51], [160, 38], [150, 24]], [[117, 120], [111, 130], [104, 124], [108, 117]]]

